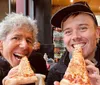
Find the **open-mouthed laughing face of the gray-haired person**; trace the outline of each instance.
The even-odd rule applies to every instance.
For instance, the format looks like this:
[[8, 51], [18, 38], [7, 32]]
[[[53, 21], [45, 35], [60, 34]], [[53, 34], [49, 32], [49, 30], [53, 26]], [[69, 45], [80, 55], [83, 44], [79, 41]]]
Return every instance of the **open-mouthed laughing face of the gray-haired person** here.
[[29, 56], [32, 52], [33, 34], [27, 26], [12, 30], [5, 40], [0, 41], [0, 52], [12, 67], [19, 64], [23, 56]]

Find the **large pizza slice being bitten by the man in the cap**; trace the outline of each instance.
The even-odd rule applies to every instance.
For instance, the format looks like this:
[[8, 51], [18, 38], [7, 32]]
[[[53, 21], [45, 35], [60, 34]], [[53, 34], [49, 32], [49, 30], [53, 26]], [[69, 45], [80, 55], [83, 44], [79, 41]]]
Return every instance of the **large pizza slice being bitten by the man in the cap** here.
[[80, 45], [75, 46], [72, 59], [60, 85], [91, 85]]

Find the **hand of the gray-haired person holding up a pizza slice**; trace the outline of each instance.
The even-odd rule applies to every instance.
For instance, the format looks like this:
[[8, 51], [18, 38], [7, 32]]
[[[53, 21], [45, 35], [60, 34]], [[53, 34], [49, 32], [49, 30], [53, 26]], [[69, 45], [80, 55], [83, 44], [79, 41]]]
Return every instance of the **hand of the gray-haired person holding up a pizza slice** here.
[[3, 79], [3, 85], [21, 85], [29, 84], [37, 81], [36, 76], [24, 77], [18, 76], [18, 66], [12, 68], [8, 75]]

